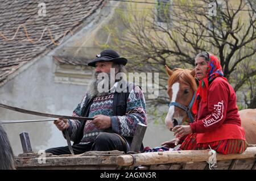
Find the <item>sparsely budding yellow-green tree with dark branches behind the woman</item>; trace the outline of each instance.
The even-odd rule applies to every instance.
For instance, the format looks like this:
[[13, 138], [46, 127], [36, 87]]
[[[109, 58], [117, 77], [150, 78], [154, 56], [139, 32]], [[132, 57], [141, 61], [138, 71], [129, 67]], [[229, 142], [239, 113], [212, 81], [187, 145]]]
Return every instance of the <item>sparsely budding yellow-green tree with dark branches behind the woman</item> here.
[[[112, 37], [110, 47], [128, 58], [128, 70], [159, 72], [159, 91], [166, 91], [164, 65], [192, 68], [196, 54], [207, 50], [220, 58], [224, 75], [234, 89], [246, 89], [249, 92], [247, 98], [253, 100], [253, 85], [248, 82], [256, 74], [253, 72], [256, 67], [256, 24], [255, 18], [250, 16], [252, 8], [245, 1], [241, 1], [241, 6], [233, 6], [234, 2], [239, 5], [240, 1], [225, 0], [225, 6], [222, 9], [218, 7], [217, 16], [212, 17], [207, 14], [207, 2], [212, 1], [173, 2], [159, 6], [167, 23], [157, 21], [156, 5], [146, 7], [145, 4], [144, 7], [141, 3], [130, 2], [122, 3], [123, 6], [116, 10], [116, 20], [106, 26], [106, 31]], [[210, 23], [212, 27], [209, 27]], [[248, 63], [249, 60], [254, 60], [254, 64], [253, 61]], [[167, 100], [166, 96], [161, 95], [148, 104], [158, 106], [167, 103]], [[242, 96], [239, 102], [240, 108], [244, 108]], [[161, 118], [163, 115], [155, 111], [152, 114], [156, 116], [155, 123], [163, 122], [160, 121], [164, 120]]]

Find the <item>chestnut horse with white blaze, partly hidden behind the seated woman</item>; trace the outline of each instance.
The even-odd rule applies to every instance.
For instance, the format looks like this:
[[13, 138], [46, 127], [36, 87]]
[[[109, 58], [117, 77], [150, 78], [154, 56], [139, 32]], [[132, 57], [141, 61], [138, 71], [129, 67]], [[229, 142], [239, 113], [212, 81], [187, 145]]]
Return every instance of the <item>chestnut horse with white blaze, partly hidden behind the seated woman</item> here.
[[[171, 69], [166, 66], [168, 78], [167, 93], [171, 105], [166, 119], [166, 127], [174, 128], [176, 125], [188, 124], [187, 120], [193, 121], [191, 112], [197, 82], [195, 79], [195, 70], [189, 69]], [[242, 127], [245, 129], [245, 137], [248, 144], [256, 144], [256, 109], [241, 110], [238, 112], [241, 117]]]

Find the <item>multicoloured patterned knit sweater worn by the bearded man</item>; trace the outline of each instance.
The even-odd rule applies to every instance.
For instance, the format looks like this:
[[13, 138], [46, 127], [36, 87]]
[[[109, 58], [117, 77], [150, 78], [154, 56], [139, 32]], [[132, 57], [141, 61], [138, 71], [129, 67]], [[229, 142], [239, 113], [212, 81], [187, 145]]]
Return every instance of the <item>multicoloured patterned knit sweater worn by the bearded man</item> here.
[[[81, 108], [84, 105], [86, 95], [82, 99], [82, 102], [78, 104], [76, 109], [73, 111], [73, 116], [81, 116]], [[133, 137], [135, 129], [138, 123], [143, 123], [147, 125], [146, 117], [146, 103], [144, 99], [143, 92], [138, 86], [135, 86], [131, 90], [129, 97], [127, 99], [126, 115], [125, 116], [114, 116], [113, 115], [113, 99], [114, 93], [111, 92], [106, 96], [99, 96], [93, 100], [90, 106], [89, 117], [95, 115], [105, 115], [110, 116], [112, 127], [112, 132], [120, 134], [124, 137]], [[75, 140], [77, 128], [79, 127], [80, 121], [78, 120], [68, 120], [69, 123], [69, 136], [71, 140]], [[87, 120], [84, 127], [84, 136], [80, 144], [85, 142], [92, 142], [95, 140], [100, 132], [105, 132], [106, 130], [97, 129], [92, 123], [92, 120]]]

